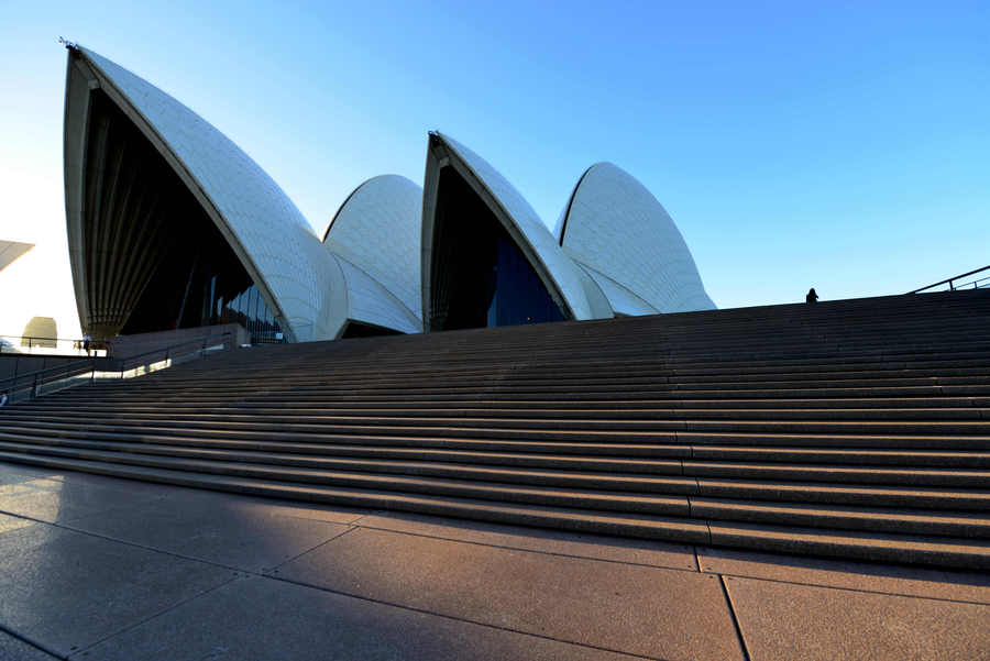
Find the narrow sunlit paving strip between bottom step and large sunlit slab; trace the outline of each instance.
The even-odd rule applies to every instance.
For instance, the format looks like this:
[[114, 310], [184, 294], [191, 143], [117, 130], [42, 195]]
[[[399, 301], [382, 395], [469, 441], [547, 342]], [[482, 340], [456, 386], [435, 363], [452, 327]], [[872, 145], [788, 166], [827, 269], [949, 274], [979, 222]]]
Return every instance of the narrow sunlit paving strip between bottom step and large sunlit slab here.
[[694, 547], [685, 544], [384, 513], [365, 516], [358, 526], [507, 549], [697, 570]]

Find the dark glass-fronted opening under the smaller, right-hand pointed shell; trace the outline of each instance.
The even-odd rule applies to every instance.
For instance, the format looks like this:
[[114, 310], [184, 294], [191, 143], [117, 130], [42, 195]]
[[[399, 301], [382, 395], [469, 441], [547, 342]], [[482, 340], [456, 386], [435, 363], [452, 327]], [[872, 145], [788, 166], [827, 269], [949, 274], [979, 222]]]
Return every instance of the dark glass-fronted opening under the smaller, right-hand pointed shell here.
[[560, 321], [564, 315], [485, 201], [451, 166], [440, 170], [430, 328]]

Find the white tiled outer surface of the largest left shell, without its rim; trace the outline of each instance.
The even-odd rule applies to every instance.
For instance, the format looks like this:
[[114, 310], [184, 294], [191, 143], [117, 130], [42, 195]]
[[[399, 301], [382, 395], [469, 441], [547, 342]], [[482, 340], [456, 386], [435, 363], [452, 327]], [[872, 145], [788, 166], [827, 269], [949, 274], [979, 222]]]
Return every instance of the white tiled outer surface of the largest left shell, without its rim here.
[[238, 145], [180, 102], [106, 57], [80, 51], [199, 184], [254, 263], [289, 327], [298, 327], [305, 339], [326, 338], [332, 331], [326, 323], [333, 266], [282, 188]]

